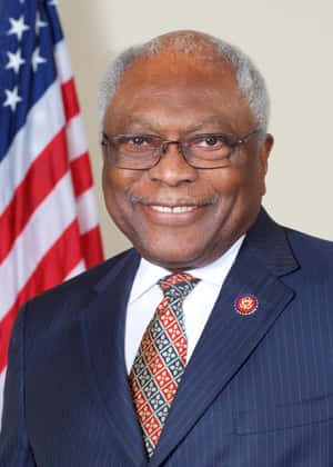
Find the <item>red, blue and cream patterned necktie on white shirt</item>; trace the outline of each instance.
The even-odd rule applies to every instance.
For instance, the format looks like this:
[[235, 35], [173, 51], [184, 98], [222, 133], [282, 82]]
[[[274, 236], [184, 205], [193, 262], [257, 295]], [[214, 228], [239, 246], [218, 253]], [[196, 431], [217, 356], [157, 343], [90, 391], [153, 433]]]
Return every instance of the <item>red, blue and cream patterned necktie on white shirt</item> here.
[[143, 335], [129, 377], [149, 457], [185, 371], [188, 341], [182, 304], [199, 280], [183, 272], [159, 280], [164, 298]]

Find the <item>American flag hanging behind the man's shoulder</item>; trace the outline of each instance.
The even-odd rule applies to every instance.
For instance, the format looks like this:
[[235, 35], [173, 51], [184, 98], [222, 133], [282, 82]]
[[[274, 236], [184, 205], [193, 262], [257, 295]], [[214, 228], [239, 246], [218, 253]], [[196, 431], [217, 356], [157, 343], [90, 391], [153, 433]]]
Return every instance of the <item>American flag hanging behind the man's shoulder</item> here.
[[0, 411], [20, 306], [103, 259], [57, 0], [0, 0]]

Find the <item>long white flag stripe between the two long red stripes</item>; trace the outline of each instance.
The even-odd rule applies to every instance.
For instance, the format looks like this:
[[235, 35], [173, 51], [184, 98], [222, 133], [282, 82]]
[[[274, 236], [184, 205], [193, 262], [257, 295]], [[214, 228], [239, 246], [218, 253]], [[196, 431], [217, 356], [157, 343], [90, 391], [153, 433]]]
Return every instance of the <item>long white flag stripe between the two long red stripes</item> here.
[[75, 219], [71, 177], [68, 172], [33, 212], [6, 260], [0, 265], [0, 319], [17, 299], [38, 262]]

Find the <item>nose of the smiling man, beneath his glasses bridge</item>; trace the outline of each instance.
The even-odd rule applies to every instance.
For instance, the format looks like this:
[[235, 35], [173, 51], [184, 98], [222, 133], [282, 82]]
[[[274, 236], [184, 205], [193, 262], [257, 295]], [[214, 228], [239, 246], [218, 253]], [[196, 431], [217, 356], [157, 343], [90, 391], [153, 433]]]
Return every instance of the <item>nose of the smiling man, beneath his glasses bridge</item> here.
[[168, 141], [159, 163], [149, 171], [153, 181], [160, 181], [170, 187], [193, 182], [198, 178], [198, 170], [189, 166], [180, 151], [178, 141]]

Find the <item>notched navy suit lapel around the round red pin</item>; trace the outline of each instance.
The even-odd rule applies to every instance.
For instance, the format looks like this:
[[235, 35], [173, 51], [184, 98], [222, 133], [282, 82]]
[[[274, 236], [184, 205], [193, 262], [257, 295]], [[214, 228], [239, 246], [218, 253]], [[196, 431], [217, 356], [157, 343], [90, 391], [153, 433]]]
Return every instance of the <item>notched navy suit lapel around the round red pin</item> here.
[[[185, 437], [218, 394], [265, 336], [293, 298], [279, 277], [297, 269], [285, 234], [262, 210], [221, 289], [202, 337], [180, 384], [150, 465], [160, 465]], [[235, 311], [235, 301], [251, 294], [258, 310]]]

